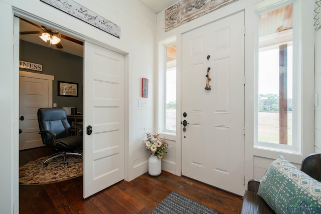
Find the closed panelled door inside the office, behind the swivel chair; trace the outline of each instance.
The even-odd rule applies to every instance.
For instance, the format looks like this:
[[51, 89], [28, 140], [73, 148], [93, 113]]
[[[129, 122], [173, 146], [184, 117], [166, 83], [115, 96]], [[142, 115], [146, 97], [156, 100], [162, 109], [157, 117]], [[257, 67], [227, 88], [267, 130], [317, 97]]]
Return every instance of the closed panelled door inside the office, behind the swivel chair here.
[[20, 71], [19, 150], [44, 146], [39, 134], [37, 111], [52, 106], [51, 75]]

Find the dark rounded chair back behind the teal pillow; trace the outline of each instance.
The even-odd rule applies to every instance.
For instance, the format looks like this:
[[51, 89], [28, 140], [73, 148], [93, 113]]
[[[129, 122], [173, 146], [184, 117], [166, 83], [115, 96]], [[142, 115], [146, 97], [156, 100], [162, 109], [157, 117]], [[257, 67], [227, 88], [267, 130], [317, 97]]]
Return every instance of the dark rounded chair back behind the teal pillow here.
[[306, 155], [301, 163], [301, 171], [317, 181], [321, 181], [321, 153]]

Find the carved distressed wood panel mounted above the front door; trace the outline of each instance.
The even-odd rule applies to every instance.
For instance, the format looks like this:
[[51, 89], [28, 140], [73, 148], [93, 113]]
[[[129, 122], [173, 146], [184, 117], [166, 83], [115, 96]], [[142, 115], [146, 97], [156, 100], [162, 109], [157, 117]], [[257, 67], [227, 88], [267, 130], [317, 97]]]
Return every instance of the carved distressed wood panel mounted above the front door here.
[[237, 0], [182, 0], [165, 11], [165, 31], [172, 30]]

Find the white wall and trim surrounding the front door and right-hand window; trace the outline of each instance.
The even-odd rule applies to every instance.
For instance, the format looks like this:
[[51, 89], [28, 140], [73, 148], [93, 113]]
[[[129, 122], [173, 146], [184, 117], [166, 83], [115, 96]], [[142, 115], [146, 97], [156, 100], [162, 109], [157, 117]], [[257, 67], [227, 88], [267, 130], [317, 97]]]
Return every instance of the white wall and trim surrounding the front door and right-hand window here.
[[[270, 0], [276, 2], [277, 0]], [[178, 101], [177, 101], [177, 127], [180, 127], [180, 120], [182, 115], [180, 106], [180, 76], [181, 76], [181, 56], [184, 47], [182, 47], [182, 34], [196, 29], [199, 26], [206, 25], [210, 22], [218, 20], [224, 16], [228, 16], [233, 13], [237, 13], [241, 10], [245, 10], [245, 181], [249, 179], [257, 178], [261, 179], [270, 163], [278, 157], [278, 155], [285, 156], [289, 161], [299, 166], [303, 156], [313, 151], [313, 65], [314, 65], [314, 33], [313, 33], [313, 10], [314, 5], [312, 1], [298, 0], [300, 17], [302, 23], [299, 28], [301, 34], [299, 37], [303, 40], [300, 44], [300, 58], [302, 63], [300, 64], [302, 70], [302, 136], [303, 142], [302, 152], [300, 154], [291, 154], [285, 152], [275, 152], [262, 149], [254, 149], [254, 4], [260, 2], [260, 0], [238, 0], [230, 5], [227, 5], [221, 9], [215, 10], [207, 15], [204, 15], [198, 19], [183, 24], [175, 29], [165, 32], [165, 11], [156, 15], [156, 59], [158, 58], [157, 45], [159, 42], [163, 42], [168, 38], [177, 36], [177, 80], [178, 80]], [[304, 14], [304, 16], [303, 16]], [[155, 70], [158, 69], [157, 62], [155, 63]], [[320, 71], [321, 72], [321, 71]], [[320, 75], [321, 76], [321, 75]], [[320, 87], [321, 88], [321, 87]], [[321, 89], [320, 89], [321, 90]], [[321, 115], [320, 115], [321, 117]], [[320, 118], [321, 120], [321, 118]], [[320, 123], [321, 130], [321, 123]], [[181, 130], [177, 129], [176, 136], [176, 156], [172, 164], [172, 170], [180, 171], [180, 164], [176, 164], [181, 159]]]

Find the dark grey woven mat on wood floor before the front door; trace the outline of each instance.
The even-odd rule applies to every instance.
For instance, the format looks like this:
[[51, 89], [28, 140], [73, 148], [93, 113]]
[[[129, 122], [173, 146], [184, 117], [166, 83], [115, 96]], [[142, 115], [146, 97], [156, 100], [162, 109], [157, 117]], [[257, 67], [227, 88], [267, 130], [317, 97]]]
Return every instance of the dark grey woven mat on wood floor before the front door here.
[[184, 195], [172, 191], [161, 203], [159, 203], [151, 214], [189, 214], [189, 213], [219, 213], [203, 204], [192, 200]]

